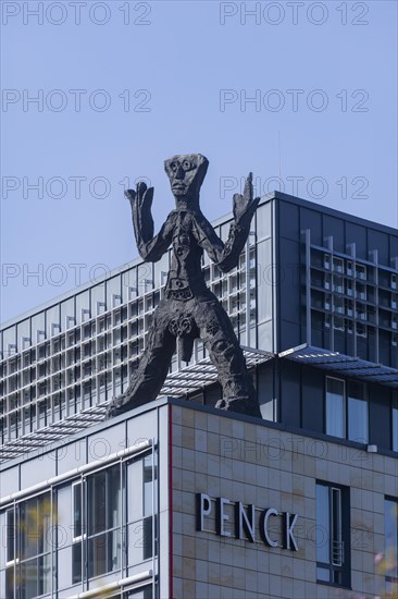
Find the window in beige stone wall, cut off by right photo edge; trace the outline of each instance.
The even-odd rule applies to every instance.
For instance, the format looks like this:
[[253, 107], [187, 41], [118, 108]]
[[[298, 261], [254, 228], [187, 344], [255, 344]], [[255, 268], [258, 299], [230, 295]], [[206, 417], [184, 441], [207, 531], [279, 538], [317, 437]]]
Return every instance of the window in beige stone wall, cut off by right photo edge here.
[[384, 501], [385, 577], [386, 591], [394, 595], [398, 584], [398, 501], [386, 498]]

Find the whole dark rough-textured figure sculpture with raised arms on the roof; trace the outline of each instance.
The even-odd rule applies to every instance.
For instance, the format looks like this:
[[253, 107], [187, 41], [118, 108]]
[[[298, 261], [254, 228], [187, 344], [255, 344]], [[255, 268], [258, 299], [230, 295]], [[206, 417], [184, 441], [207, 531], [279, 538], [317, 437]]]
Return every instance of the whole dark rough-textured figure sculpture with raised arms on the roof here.
[[154, 400], [166, 378], [176, 343], [182, 359], [189, 362], [197, 338], [203, 341], [217, 368], [223, 399], [216, 407], [261, 417], [251, 377], [231, 320], [207, 288], [201, 270], [203, 249], [223, 272], [228, 272], [238, 264], [260, 198], [252, 197], [250, 173], [244, 195], [234, 195], [234, 222], [224, 244], [199, 207], [199, 191], [208, 166], [209, 161], [200, 154], [174, 156], [165, 160], [176, 209], [169, 215], [156, 236], [151, 215], [153, 187], [147, 188], [141, 182], [136, 192], [125, 192], [132, 205], [134, 232], [141, 258], [156, 262], [170, 245], [172, 257], [165, 296], [153, 313], [148, 346], [127, 390], [112, 400], [108, 417]]

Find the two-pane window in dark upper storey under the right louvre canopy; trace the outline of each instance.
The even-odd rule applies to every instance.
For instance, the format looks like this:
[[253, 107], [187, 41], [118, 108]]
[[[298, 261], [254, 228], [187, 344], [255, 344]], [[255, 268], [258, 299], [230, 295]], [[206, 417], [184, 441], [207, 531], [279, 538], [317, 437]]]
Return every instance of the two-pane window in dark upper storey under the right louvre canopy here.
[[369, 441], [369, 406], [362, 382], [326, 377], [326, 435]]

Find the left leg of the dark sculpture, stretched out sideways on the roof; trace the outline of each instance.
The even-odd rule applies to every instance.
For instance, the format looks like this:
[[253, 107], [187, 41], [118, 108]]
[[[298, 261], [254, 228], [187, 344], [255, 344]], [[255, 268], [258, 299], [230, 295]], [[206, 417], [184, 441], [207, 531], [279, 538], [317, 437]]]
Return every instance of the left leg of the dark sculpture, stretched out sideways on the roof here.
[[107, 412], [107, 418], [123, 414], [156, 400], [175, 351], [175, 337], [169, 331], [170, 310], [166, 303], [161, 303], [153, 313], [148, 346], [139, 360], [130, 384], [122, 395], [114, 398]]

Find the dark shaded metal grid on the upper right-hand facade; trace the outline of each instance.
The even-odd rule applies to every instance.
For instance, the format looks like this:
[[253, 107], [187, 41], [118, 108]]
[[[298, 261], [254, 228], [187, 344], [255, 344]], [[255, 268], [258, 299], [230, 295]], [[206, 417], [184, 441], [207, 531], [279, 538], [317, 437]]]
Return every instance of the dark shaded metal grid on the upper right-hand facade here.
[[307, 342], [398, 368], [398, 258], [387, 267], [377, 250], [369, 260], [350, 250], [334, 252], [333, 237], [312, 245], [307, 233]]

